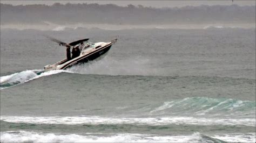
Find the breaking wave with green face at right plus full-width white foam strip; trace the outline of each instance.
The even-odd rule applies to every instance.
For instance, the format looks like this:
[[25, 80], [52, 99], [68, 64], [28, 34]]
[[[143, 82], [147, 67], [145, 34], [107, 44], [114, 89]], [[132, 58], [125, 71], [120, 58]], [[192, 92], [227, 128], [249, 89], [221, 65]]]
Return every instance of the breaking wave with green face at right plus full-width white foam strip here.
[[[1, 116], [2, 121], [63, 125], [245, 125], [255, 126], [255, 102], [237, 99], [190, 97], [159, 105], [116, 108], [116, 116]], [[129, 116], [132, 113], [134, 116]], [[209, 118], [210, 117], [210, 118]]]

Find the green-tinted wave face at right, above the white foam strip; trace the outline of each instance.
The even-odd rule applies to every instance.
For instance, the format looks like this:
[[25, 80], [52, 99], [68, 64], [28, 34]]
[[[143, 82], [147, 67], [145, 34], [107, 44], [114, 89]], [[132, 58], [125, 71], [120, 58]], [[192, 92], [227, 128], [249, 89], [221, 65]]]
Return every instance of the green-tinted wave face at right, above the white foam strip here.
[[151, 111], [165, 115], [254, 116], [255, 102], [227, 98], [191, 97], [164, 102]]

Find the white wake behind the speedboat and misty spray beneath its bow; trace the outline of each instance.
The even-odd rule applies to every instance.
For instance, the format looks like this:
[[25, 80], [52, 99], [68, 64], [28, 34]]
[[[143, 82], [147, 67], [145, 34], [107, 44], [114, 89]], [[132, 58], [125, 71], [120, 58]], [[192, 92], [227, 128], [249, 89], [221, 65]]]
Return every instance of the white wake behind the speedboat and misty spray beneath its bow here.
[[[13, 87], [14, 85], [22, 84], [36, 78], [58, 74], [58, 73], [78, 73], [78, 74], [101, 74], [101, 75], [125, 75], [127, 73], [133, 73], [132, 75], [153, 75], [155, 70], [150, 67], [145, 66], [148, 63], [148, 59], [139, 59], [131, 62], [130, 60], [124, 60], [122, 63], [113, 60], [111, 58], [100, 58], [100, 60], [93, 60], [80, 65], [72, 66], [71, 68], [65, 70], [52, 70], [44, 72], [43, 70], [24, 70], [11, 75], [1, 76], [0, 87], [2, 89]], [[97, 64], [96, 64], [97, 63]], [[137, 65], [140, 69], [134, 69], [134, 65]], [[116, 67], [116, 68], [113, 68]], [[131, 72], [132, 71], [132, 72]]]

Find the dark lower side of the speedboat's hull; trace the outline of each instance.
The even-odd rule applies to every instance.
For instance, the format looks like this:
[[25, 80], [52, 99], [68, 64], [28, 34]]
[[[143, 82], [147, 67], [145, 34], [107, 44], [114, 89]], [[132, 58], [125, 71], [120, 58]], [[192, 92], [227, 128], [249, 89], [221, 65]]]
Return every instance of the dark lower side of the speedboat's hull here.
[[95, 59], [99, 58], [101, 55], [105, 54], [107, 51], [109, 51], [111, 46], [112, 46], [112, 43], [111, 43], [111, 45], [106, 46], [97, 52], [96, 51], [94, 53], [92, 52], [89, 55], [85, 55], [85, 56], [79, 58], [77, 61], [74, 61], [72, 63], [69, 63], [69, 64], [63, 66], [60, 69], [66, 69], [66, 68], [72, 67], [73, 65], [77, 65], [78, 63], [86, 63], [86, 62], [95, 60]]

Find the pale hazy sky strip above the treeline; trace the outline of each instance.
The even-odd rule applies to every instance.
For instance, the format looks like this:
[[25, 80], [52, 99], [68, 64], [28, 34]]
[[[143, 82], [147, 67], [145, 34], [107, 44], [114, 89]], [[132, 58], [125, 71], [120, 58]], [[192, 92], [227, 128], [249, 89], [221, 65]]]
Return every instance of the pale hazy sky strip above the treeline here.
[[143, 5], [143, 6], [152, 6], [155, 8], [161, 8], [161, 7], [181, 7], [181, 6], [186, 6], [186, 5], [191, 5], [191, 6], [198, 6], [198, 5], [232, 5], [232, 4], [237, 4], [237, 5], [255, 5], [255, 1], [236, 1], [232, 3], [232, 0], [229, 1], [21, 1], [21, 0], [16, 0], [16, 1], [1, 1], [1, 3], [6, 3], [6, 4], [12, 4], [12, 5], [27, 5], [27, 4], [47, 4], [47, 5], [52, 5], [54, 3], [98, 3], [98, 4], [116, 4], [119, 6], [126, 6], [128, 4], [133, 4], [133, 5]]

